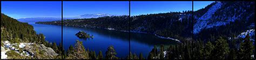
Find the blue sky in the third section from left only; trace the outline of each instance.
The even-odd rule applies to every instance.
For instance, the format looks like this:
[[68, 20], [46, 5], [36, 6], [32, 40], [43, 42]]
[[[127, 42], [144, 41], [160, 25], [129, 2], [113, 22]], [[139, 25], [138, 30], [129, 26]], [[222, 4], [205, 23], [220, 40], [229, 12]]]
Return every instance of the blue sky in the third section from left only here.
[[131, 2], [131, 16], [150, 13], [192, 11], [192, 1], [134, 1]]

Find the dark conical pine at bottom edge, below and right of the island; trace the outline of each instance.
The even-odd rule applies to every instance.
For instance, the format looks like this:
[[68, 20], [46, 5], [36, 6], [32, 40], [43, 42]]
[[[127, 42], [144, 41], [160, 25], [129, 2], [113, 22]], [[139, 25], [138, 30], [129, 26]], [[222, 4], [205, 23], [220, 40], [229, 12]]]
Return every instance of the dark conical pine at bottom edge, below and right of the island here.
[[116, 55], [116, 50], [114, 50], [114, 47], [113, 46], [110, 46], [109, 48], [107, 48], [107, 51], [106, 51], [106, 56], [105, 58], [106, 59], [117, 59]]

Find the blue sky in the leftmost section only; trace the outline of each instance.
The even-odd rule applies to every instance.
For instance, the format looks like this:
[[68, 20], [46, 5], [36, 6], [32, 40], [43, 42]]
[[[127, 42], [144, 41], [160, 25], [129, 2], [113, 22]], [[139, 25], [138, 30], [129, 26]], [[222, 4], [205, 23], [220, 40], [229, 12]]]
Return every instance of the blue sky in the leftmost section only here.
[[62, 17], [62, 2], [1, 1], [1, 13], [12, 18]]

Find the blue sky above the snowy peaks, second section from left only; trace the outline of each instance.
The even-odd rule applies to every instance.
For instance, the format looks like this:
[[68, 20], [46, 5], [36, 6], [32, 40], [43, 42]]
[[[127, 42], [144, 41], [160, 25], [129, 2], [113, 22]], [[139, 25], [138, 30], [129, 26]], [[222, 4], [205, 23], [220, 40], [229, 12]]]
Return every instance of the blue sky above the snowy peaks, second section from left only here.
[[83, 14], [109, 13], [113, 15], [129, 15], [129, 1], [84, 1], [63, 2], [63, 17], [77, 17]]

